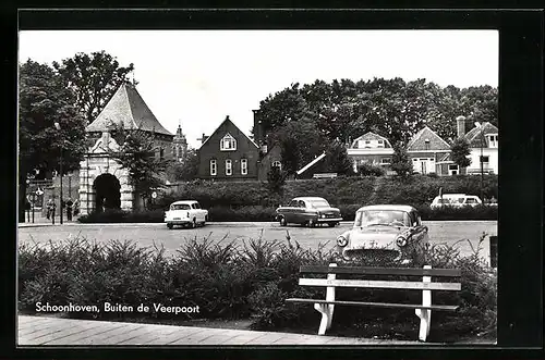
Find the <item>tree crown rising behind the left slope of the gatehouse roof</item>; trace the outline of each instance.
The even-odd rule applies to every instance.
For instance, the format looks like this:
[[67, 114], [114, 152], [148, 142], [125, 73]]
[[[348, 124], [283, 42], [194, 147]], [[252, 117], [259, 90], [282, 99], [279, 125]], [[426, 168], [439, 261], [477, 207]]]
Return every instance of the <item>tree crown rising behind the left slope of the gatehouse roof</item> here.
[[61, 63], [53, 62], [66, 88], [76, 95], [76, 107], [90, 124], [102, 111], [119, 86], [129, 80], [129, 73], [134, 71], [131, 63], [120, 66], [111, 54], [102, 51], [78, 52]]

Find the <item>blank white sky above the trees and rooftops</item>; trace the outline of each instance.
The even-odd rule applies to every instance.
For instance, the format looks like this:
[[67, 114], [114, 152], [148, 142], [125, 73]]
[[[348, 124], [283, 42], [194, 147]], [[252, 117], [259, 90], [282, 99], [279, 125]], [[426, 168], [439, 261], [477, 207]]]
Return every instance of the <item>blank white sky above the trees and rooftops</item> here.
[[425, 78], [498, 86], [497, 30], [24, 30], [19, 59], [51, 64], [77, 52], [134, 64], [138, 92], [190, 147], [227, 115], [246, 135], [259, 101], [292, 83]]

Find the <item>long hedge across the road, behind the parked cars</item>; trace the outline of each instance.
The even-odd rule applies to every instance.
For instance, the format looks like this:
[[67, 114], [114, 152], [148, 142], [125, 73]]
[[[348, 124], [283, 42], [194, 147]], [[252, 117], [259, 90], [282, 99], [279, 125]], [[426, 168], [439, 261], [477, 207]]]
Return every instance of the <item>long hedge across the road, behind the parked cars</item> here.
[[[481, 195], [481, 176], [426, 176], [413, 175], [407, 181], [398, 177], [336, 177], [325, 179], [288, 181], [281, 194], [274, 194], [266, 182], [213, 182], [194, 181], [173, 187], [156, 202], [165, 209], [172, 201], [195, 199], [205, 208], [211, 207], [277, 207], [298, 196], [318, 196], [334, 206], [358, 203], [407, 203], [414, 207], [429, 204], [439, 188], [443, 193]], [[485, 198], [498, 198], [498, 176], [485, 175]]]

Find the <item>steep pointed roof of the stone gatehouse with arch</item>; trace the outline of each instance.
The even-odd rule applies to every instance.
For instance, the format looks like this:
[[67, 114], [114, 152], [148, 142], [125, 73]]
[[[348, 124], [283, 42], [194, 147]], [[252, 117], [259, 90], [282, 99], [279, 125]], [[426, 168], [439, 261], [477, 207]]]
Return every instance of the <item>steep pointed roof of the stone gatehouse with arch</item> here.
[[134, 85], [121, 85], [97, 119], [87, 127], [87, 133], [106, 132], [111, 125], [122, 125], [124, 129], [140, 128], [145, 132], [170, 135], [142, 99]]

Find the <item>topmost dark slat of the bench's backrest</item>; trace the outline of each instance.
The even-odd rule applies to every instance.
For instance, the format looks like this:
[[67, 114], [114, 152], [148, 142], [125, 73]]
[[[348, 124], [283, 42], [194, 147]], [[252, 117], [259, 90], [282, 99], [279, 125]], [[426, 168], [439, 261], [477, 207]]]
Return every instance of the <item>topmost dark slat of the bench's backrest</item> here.
[[367, 266], [301, 266], [301, 273], [307, 274], [370, 274], [405, 276], [445, 276], [460, 277], [460, 269], [417, 269], [417, 268], [367, 268]]

